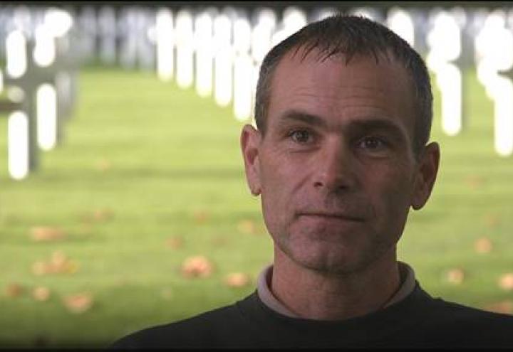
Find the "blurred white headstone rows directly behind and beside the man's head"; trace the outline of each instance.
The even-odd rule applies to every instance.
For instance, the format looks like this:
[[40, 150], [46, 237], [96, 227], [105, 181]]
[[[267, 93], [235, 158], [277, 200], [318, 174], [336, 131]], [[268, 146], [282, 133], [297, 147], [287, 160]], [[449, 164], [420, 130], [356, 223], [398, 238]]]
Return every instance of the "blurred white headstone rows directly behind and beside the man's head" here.
[[[336, 8], [306, 12], [270, 8], [102, 7], [77, 14], [83, 52], [104, 63], [157, 70], [162, 80], [195, 87], [220, 106], [232, 105], [240, 120], [252, 117], [261, 60], [266, 52], [306, 23]], [[442, 129], [457, 135], [465, 126], [465, 74], [477, 78], [494, 103], [494, 149], [513, 154], [513, 9], [347, 9], [390, 27], [423, 55], [441, 92]]]

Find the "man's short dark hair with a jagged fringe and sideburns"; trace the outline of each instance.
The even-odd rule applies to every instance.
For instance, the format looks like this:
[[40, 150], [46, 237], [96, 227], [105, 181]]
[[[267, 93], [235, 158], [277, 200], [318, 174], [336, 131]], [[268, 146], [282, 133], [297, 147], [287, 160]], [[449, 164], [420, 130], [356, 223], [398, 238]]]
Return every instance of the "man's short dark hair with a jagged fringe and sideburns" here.
[[304, 48], [304, 57], [317, 49], [322, 60], [331, 55], [343, 54], [346, 63], [354, 55], [388, 58], [389, 53], [413, 78], [415, 90], [415, 117], [413, 151], [420, 154], [430, 137], [432, 123], [432, 92], [430, 76], [423, 58], [397, 34], [382, 24], [361, 16], [336, 14], [322, 21], [309, 23], [271, 48], [260, 67], [254, 117], [262, 134], [266, 129], [266, 115], [271, 98], [271, 80], [281, 58], [290, 50]]

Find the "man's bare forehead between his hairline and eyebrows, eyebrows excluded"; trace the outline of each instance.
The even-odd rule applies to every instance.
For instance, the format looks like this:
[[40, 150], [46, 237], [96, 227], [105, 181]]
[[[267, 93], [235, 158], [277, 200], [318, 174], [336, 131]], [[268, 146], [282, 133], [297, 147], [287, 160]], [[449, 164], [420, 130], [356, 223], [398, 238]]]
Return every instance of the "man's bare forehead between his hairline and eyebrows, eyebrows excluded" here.
[[385, 105], [393, 103], [390, 98], [413, 99], [412, 85], [402, 66], [388, 60], [376, 62], [366, 55], [346, 63], [341, 55], [321, 60], [313, 50], [304, 58], [294, 51], [287, 53], [273, 74], [270, 102], [281, 105], [284, 99], [301, 95], [312, 95], [328, 104], [351, 97], [382, 99]]

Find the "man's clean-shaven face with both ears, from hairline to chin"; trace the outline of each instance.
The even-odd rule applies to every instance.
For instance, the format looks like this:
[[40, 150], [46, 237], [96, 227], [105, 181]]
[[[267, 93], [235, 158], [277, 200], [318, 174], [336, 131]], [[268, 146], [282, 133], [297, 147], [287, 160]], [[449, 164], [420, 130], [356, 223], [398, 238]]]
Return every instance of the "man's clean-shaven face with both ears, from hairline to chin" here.
[[400, 65], [315, 54], [289, 53], [276, 67], [265, 135], [242, 132], [247, 179], [277, 257], [357, 272], [395, 260], [410, 206], [429, 197], [438, 151], [415, 159], [413, 86]]

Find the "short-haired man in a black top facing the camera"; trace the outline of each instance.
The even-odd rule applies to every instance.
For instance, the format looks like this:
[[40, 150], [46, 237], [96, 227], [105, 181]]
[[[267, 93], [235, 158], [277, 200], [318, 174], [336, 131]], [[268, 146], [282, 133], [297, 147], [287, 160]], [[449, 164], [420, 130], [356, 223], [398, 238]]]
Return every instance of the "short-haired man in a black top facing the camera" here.
[[311, 23], [266, 55], [255, 110], [242, 154], [274, 264], [242, 301], [114, 347], [513, 347], [513, 316], [434, 299], [396, 258], [440, 159], [405, 41], [355, 16]]

